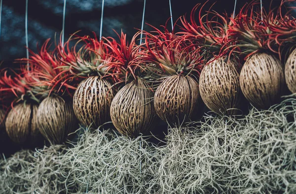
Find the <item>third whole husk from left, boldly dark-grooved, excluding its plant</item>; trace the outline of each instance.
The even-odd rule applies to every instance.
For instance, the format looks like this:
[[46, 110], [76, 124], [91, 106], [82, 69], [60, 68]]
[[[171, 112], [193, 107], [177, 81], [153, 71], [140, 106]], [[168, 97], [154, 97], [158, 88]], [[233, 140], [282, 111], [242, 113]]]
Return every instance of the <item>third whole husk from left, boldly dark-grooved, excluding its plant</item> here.
[[74, 113], [85, 126], [99, 127], [111, 121], [110, 106], [114, 97], [112, 84], [99, 76], [83, 80], [73, 97]]

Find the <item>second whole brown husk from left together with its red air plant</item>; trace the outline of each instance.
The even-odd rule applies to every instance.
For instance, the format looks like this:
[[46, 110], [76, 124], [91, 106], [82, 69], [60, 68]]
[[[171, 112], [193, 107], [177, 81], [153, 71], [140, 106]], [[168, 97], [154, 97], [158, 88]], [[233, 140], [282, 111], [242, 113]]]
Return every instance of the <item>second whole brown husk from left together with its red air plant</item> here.
[[51, 143], [62, 143], [77, 127], [72, 107], [72, 96], [77, 83], [67, 69], [57, 59], [54, 52], [49, 52], [50, 39], [38, 49], [30, 50], [30, 72], [37, 81], [31, 85], [45, 97], [37, 110], [37, 125], [42, 135]]

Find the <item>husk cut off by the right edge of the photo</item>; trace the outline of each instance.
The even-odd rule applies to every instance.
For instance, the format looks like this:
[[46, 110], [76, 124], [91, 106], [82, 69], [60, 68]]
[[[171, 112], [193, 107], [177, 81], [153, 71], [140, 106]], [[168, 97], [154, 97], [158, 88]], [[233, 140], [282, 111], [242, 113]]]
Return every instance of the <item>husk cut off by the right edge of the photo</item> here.
[[296, 49], [289, 55], [286, 62], [285, 78], [289, 90], [296, 93]]

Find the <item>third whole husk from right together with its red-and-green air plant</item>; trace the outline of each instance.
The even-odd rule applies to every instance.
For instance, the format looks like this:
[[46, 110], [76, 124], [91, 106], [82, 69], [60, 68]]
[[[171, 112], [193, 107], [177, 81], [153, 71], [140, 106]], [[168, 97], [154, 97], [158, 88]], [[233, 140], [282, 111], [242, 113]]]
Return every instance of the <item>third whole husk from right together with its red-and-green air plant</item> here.
[[162, 26], [163, 32], [152, 26], [152, 32], [145, 32], [146, 49], [141, 58], [148, 63], [151, 81], [159, 85], [154, 94], [157, 115], [169, 124], [180, 125], [198, 110], [201, 58], [190, 41], [169, 32], [166, 26]]

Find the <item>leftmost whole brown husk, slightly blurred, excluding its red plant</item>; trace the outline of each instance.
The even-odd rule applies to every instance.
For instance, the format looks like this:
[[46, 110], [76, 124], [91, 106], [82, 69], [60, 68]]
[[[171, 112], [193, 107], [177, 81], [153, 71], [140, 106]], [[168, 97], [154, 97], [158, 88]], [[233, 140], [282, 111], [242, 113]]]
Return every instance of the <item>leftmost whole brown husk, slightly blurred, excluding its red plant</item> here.
[[9, 138], [18, 144], [37, 142], [40, 132], [37, 128], [38, 105], [18, 103], [7, 114], [5, 126]]

